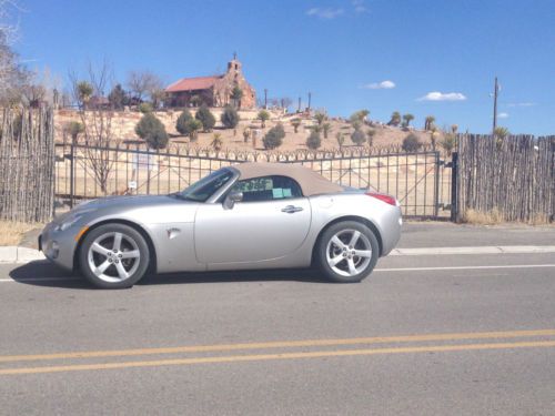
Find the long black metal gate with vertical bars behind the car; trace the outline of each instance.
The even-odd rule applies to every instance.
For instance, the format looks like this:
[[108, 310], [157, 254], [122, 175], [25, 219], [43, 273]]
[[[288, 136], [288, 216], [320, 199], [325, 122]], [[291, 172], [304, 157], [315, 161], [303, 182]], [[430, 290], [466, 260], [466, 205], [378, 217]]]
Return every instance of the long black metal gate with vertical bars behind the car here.
[[214, 152], [142, 144], [94, 148], [56, 145], [56, 195], [73, 205], [108, 195], [167, 194], [235, 163], [266, 161], [305, 165], [332, 182], [392, 194], [411, 217], [451, 216], [451, 162], [440, 152]]

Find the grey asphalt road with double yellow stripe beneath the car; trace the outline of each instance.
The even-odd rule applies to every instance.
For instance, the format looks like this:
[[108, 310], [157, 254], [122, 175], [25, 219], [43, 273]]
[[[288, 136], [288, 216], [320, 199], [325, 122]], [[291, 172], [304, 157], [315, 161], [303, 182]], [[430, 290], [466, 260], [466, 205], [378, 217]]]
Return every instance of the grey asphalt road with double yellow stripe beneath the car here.
[[[13, 281], [12, 281], [13, 280]], [[0, 266], [0, 414], [554, 415], [552, 254], [395, 256], [98, 291]]]

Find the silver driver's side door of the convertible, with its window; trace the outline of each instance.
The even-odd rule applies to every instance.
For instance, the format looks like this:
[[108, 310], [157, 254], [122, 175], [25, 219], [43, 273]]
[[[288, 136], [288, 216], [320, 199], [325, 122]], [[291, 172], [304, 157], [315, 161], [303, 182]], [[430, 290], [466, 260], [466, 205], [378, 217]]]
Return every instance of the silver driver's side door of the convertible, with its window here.
[[297, 250], [311, 225], [311, 205], [287, 176], [239, 181], [243, 200], [232, 209], [199, 207], [194, 223], [196, 257], [202, 263], [263, 262]]

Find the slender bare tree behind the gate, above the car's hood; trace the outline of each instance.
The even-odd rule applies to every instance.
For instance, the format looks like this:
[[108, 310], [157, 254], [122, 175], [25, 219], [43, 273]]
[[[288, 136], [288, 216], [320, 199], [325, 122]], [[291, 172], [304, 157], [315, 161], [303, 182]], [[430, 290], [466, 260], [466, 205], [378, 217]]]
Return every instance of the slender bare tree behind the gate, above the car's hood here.
[[[82, 138], [84, 141], [84, 162], [91, 169], [94, 180], [102, 192], [108, 192], [108, 180], [114, 168], [115, 160], [110, 159], [110, 144], [112, 142], [112, 111], [103, 105], [102, 100], [90, 100], [85, 88], [92, 88], [92, 95], [105, 97], [111, 87], [112, 72], [104, 61], [99, 68], [89, 63], [87, 78], [79, 79], [74, 72], [70, 72], [72, 94], [78, 103], [79, 116], [83, 125]], [[88, 88], [87, 88], [88, 90]]]

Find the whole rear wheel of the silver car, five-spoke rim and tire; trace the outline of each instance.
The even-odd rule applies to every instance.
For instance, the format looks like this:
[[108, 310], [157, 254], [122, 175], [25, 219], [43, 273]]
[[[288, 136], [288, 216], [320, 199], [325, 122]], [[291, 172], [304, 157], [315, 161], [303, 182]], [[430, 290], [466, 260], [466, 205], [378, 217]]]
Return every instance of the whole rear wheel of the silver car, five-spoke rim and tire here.
[[366, 225], [340, 222], [325, 230], [319, 241], [319, 266], [333, 282], [360, 282], [374, 270], [379, 250], [376, 236]]

